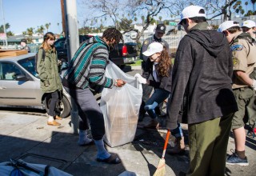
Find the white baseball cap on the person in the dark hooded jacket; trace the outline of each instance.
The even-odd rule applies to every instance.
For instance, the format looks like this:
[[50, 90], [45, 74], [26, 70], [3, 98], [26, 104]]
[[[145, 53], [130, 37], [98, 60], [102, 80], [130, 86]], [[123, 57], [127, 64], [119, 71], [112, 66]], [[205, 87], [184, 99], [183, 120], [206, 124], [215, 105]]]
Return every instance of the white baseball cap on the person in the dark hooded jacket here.
[[[181, 21], [185, 18], [193, 18], [193, 17], [206, 17], [205, 12], [200, 12], [200, 10], [204, 10], [202, 6], [187, 6], [184, 10], [182, 10]], [[178, 24], [180, 23], [178, 22]]]

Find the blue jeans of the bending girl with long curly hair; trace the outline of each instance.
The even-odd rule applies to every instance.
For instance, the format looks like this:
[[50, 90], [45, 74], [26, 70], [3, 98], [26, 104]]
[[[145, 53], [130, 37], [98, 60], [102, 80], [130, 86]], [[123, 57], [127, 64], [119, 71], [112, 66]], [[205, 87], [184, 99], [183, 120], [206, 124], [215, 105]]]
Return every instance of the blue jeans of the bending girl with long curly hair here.
[[146, 101], [146, 106], [144, 109], [147, 114], [150, 115], [150, 118], [157, 118], [157, 114], [155, 113], [155, 108], [163, 102], [166, 98], [168, 98], [170, 92], [163, 89], [155, 89], [154, 93], [151, 95], [150, 99]]

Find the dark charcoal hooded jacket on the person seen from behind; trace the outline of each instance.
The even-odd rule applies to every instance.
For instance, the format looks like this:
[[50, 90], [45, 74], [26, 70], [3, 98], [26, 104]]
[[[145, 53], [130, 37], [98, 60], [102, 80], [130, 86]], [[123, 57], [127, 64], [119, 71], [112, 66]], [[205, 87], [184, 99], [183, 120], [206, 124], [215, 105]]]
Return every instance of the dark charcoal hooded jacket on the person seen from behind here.
[[233, 62], [226, 37], [198, 23], [179, 43], [173, 67], [167, 128], [206, 122], [238, 110], [231, 89]]

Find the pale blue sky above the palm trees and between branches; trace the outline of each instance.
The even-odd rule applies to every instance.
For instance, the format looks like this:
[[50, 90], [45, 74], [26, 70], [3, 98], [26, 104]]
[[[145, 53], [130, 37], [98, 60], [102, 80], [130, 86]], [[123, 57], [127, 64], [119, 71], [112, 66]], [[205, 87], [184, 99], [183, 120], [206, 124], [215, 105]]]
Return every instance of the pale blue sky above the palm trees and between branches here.
[[[250, 0], [248, 1], [250, 2]], [[78, 2], [81, 0], [77, 0]], [[244, 2], [246, 0], [242, 0], [242, 4]], [[49, 31], [58, 34], [62, 31], [61, 0], [2, 0], [2, 4], [5, 22], [10, 24], [8, 30], [14, 34], [22, 34], [22, 31], [26, 31], [29, 27], [36, 30], [38, 26], [45, 26], [49, 22], [51, 24]], [[78, 18], [82, 16], [81, 13], [86, 14], [86, 10], [79, 9], [79, 7], [81, 8], [81, 6], [77, 6]], [[82, 7], [84, 8], [84, 6]], [[252, 9], [251, 3], [247, 8], [248, 10]], [[2, 24], [2, 7], [0, 7], [0, 25]]]

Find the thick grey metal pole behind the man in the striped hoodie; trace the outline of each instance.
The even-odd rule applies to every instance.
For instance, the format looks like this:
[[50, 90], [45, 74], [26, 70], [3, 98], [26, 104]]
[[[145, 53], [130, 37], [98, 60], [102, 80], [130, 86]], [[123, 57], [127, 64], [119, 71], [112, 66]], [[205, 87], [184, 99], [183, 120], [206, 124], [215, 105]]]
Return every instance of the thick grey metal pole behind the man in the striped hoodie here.
[[[70, 61], [73, 58], [76, 50], [79, 47], [78, 38], [78, 19], [77, 19], [77, 5], [76, 0], [64, 0], [65, 9], [65, 24], [66, 24], [66, 46], [67, 58]], [[71, 98], [71, 126], [74, 134], [78, 133], [78, 107], [73, 98]]]

